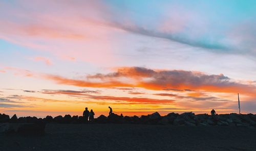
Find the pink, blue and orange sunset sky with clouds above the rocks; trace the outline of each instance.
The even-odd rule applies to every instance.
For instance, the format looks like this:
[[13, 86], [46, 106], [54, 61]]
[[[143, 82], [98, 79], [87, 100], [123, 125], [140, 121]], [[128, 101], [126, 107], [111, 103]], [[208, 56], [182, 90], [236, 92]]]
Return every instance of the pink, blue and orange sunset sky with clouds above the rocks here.
[[0, 1], [0, 113], [256, 113], [256, 1]]

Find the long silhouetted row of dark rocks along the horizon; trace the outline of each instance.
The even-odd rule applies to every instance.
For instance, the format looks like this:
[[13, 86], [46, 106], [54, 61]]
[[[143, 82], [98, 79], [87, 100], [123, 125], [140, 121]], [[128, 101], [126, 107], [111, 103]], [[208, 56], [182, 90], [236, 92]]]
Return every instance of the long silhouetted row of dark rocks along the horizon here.
[[[47, 116], [45, 118], [37, 117], [19, 117], [13, 115], [0, 114], [0, 122], [9, 123], [88, 123], [82, 116], [59, 115], [56, 117]], [[158, 112], [148, 115], [138, 116], [120, 116], [111, 114], [108, 117], [100, 115], [95, 118], [93, 123], [134, 123], [134, 124], [172, 124], [187, 126], [230, 126], [230, 127], [256, 127], [256, 115], [254, 114], [220, 114], [211, 116], [208, 114], [197, 114], [187, 112], [182, 114], [169, 113], [161, 116]]]

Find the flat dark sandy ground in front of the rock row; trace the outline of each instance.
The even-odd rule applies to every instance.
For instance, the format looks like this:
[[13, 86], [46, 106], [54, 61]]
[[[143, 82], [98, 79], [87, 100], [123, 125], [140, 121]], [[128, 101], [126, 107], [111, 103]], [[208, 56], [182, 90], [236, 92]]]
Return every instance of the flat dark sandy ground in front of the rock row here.
[[0, 134], [0, 150], [256, 150], [256, 129], [47, 124], [45, 136]]

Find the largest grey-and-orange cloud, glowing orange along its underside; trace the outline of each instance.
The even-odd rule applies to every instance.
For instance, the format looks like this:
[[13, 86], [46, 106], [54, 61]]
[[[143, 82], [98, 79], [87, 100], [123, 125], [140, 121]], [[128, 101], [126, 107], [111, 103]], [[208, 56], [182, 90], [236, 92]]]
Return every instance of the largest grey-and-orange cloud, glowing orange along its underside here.
[[[205, 74], [199, 71], [153, 70], [143, 67], [117, 68], [108, 74], [88, 75], [87, 80], [73, 80], [57, 75], [45, 75], [58, 84], [79, 87], [141, 87], [151, 90], [203, 90], [208, 92], [241, 92], [254, 95], [256, 86], [236, 82], [223, 74]], [[93, 82], [91, 80], [98, 80]], [[198, 93], [199, 94], [199, 93]]]

